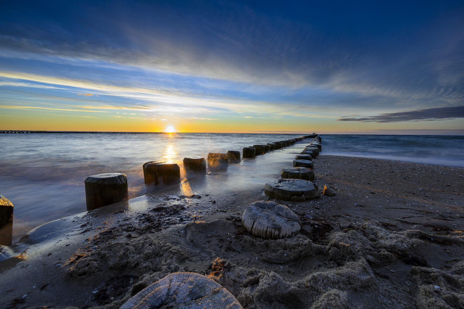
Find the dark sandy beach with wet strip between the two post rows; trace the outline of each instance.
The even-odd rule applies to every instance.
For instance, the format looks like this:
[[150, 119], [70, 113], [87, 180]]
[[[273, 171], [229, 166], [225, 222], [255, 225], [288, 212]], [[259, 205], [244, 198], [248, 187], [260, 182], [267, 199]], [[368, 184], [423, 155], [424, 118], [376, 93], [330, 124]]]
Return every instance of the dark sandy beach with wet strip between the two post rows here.
[[246, 233], [246, 206], [306, 144], [37, 228], [0, 262], [0, 307], [119, 308], [175, 271], [213, 277], [244, 308], [463, 307], [462, 168], [320, 155], [315, 183], [336, 196], [281, 202], [302, 233]]

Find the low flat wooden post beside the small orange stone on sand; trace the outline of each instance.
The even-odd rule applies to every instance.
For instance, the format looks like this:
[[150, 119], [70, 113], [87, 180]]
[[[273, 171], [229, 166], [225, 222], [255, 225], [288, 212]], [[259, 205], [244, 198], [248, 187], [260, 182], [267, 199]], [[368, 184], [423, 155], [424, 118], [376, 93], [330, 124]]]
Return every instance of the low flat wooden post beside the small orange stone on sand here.
[[304, 202], [321, 197], [315, 183], [303, 179], [276, 179], [264, 185], [264, 193], [282, 201]]

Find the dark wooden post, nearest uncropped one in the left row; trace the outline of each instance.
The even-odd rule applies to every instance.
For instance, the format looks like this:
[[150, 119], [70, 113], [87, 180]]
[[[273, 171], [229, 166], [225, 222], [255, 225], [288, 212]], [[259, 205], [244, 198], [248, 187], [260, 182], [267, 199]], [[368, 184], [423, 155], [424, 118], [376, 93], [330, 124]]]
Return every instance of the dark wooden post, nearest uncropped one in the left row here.
[[127, 177], [121, 173], [92, 175], [84, 180], [87, 210], [100, 208], [129, 198]]

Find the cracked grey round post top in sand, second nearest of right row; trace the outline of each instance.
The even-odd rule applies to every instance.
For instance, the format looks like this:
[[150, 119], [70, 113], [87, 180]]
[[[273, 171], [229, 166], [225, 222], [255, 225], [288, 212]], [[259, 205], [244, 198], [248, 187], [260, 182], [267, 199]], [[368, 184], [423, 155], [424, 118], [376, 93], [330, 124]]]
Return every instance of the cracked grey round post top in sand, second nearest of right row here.
[[287, 206], [272, 201], [251, 203], [243, 213], [242, 226], [262, 239], [284, 238], [301, 230], [298, 216]]

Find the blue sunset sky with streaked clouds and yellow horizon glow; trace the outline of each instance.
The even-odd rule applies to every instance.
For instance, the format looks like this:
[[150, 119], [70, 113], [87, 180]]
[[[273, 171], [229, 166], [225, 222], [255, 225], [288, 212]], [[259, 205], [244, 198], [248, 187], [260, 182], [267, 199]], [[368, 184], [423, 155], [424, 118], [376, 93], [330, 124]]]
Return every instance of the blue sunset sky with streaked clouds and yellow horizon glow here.
[[462, 0], [0, 8], [0, 130], [464, 134]]

